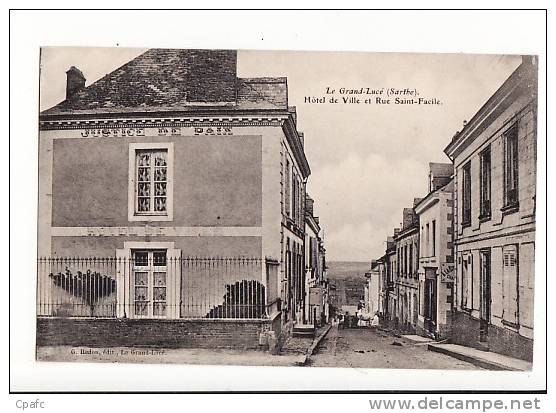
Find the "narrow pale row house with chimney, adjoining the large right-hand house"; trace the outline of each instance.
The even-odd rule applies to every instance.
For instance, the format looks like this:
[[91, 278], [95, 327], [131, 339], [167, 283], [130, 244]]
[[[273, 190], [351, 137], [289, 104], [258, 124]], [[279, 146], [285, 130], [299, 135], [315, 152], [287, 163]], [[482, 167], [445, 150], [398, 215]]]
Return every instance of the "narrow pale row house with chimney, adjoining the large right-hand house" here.
[[437, 340], [449, 337], [454, 294], [453, 165], [429, 163], [429, 193], [419, 215], [419, 316], [417, 331]]

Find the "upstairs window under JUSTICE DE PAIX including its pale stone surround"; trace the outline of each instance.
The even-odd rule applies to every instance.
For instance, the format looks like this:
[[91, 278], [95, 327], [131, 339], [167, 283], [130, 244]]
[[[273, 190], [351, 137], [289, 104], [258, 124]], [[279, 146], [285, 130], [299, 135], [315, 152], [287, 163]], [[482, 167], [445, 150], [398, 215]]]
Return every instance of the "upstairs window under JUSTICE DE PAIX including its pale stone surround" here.
[[129, 145], [128, 219], [173, 219], [173, 144]]

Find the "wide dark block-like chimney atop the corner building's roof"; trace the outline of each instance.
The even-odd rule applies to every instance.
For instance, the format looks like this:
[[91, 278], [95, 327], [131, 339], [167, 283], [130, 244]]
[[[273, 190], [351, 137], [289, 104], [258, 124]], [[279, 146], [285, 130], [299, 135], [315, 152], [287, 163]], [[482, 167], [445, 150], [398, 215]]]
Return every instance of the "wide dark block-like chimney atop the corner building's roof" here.
[[235, 103], [237, 52], [188, 50], [185, 88], [191, 103]]

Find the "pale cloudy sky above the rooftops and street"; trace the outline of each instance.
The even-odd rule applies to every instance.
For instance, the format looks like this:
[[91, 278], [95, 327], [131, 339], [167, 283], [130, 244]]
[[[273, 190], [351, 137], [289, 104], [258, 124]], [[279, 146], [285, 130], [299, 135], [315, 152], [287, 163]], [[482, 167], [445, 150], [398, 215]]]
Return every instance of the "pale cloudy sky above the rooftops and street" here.
[[[65, 97], [65, 71], [87, 86], [144, 49], [45, 48], [41, 110]], [[520, 56], [239, 51], [238, 76], [288, 78], [311, 167], [307, 190], [324, 231], [327, 259], [370, 261], [400, 225], [402, 210], [428, 190], [428, 163], [443, 150], [521, 62]], [[306, 103], [326, 88], [417, 90], [440, 105]], [[384, 92], [385, 93], [385, 92]], [[351, 96], [351, 95], [350, 95]]]

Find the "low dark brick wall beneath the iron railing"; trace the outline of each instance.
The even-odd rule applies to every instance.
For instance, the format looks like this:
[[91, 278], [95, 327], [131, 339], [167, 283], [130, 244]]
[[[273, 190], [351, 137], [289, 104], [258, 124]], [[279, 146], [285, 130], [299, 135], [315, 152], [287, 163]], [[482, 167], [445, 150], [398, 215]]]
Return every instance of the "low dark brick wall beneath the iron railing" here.
[[37, 318], [37, 346], [264, 349], [270, 320]]

